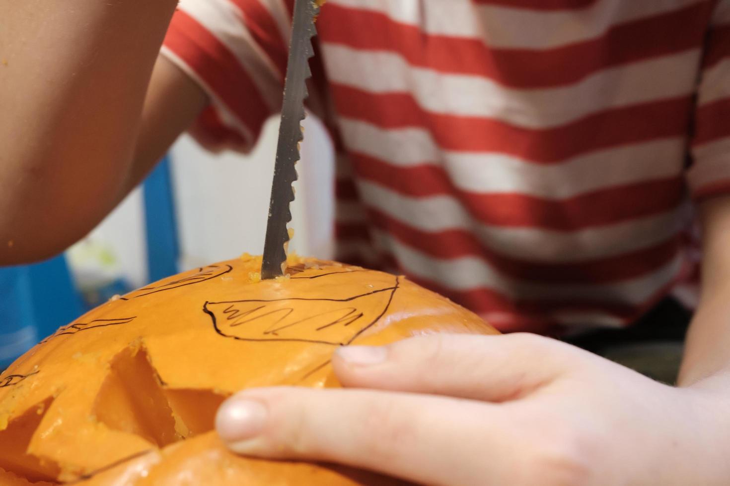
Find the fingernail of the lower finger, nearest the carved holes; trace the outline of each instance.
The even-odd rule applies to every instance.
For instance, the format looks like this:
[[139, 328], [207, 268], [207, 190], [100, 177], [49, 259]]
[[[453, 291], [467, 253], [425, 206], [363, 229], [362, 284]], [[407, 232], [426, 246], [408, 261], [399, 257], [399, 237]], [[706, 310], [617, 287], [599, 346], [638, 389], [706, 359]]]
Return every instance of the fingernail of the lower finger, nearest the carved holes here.
[[215, 415], [215, 428], [228, 443], [252, 439], [264, 429], [269, 410], [260, 401], [233, 397]]

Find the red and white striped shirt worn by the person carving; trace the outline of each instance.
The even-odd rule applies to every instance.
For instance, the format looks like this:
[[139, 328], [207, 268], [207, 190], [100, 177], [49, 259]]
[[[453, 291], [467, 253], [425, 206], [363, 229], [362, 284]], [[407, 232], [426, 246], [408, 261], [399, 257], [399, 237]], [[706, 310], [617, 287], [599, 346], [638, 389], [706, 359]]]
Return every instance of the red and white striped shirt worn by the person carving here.
[[[280, 109], [293, 0], [182, 0], [164, 55], [247, 149]], [[319, 106], [339, 259], [504, 331], [627, 324], [694, 272], [730, 192], [730, 0], [329, 0]], [[316, 101], [316, 100], [315, 100]]]

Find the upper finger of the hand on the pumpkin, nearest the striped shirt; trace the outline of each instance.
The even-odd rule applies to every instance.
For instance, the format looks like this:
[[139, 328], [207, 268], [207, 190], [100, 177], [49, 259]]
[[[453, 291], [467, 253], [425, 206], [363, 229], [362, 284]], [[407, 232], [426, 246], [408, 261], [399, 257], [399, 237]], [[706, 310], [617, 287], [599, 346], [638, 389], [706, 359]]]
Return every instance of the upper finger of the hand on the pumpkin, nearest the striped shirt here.
[[508, 401], [585, 367], [586, 356], [535, 334], [431, 334], [383, 347], [338, 348], [332, 364], [347, 387]]

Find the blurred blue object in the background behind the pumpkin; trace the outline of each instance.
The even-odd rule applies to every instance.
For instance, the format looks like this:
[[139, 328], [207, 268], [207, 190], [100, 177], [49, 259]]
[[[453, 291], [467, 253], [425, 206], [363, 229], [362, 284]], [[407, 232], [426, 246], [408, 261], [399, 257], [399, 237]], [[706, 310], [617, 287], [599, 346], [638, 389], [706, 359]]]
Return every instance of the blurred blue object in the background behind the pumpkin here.
[[[143, 191], [147, 281], [153, 282], [178, 272], [180, 249], [168, 157], [147, 176]], [[123, 281], [96, 289], [100, 302], [129, 290]], [[0, 370], [86, 310], [64, 255], [37, 264], [0, 267]]]

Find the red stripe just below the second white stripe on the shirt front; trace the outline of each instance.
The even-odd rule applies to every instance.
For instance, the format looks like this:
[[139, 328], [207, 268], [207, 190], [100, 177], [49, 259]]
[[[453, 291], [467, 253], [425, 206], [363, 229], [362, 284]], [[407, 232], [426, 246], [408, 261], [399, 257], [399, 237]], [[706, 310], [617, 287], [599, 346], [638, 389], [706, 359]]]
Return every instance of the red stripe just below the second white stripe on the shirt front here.
[[624, 144], [686, 136], [693, 111], [691, 96], [601, 111], [575, 122], [542, 130], [496, 119], [435, 114], [408, 93], [374, 94], [332, 84], [342, 117], [380, 128], [420, 127], [447, 150], [500, 152], [533, 162], [569, 157]]

